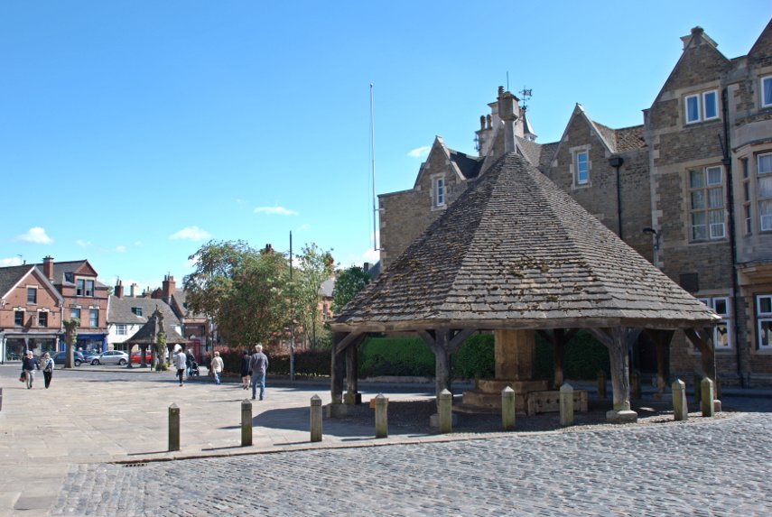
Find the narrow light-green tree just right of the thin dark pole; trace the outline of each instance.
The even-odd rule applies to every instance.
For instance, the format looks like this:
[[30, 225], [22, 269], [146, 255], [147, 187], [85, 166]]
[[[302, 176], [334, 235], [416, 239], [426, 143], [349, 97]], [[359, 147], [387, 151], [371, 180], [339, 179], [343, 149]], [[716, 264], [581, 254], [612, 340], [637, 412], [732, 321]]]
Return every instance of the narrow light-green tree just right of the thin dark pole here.
[[321, 327], [321, 284], [335, 272], [332, 250], [323, 251], [314, 243], [305, 245], [298, 255], [299, 271], [293, 277], [293, 306], [305, 341], [315, 349], [327, 341], [319, 336]]

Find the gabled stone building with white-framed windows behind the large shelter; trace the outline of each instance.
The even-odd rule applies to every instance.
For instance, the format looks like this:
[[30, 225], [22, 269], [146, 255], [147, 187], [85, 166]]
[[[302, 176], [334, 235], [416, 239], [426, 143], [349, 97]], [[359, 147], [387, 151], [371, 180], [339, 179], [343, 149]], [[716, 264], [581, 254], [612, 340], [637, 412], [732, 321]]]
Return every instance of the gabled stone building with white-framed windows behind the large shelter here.
[[[517, 99], [499, 88], [480, 117], [479, 155], [438, 136], [413, 189], [379, 196], [382, 271], [516, 152], [721, 318], [710, 333], [724, 382], [772, 383], [772, 22], [731, 60], [700, 27], [682, 40], [643, 125], [612, 129], [577, 105], [558, 142], [537, 143], [516, 102], [502, 118], [502, 97]], [[661, 338], [637, 338], [636, 369], [658, 371], [661, 385], [702, 373], [686, 333]]]

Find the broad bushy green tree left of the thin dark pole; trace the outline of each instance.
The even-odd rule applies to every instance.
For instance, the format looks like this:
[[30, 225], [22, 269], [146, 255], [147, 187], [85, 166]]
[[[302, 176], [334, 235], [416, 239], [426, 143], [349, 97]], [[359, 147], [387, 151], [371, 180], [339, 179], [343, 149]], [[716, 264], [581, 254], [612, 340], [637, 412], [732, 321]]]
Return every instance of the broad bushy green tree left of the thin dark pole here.
[[188, 309], [214, 319], [228, 346], [268, 342], [284, 331], [290, 312], [284, 254], [244, 241], [210, 241], [191, 260], [195, 271], [183, 281]]

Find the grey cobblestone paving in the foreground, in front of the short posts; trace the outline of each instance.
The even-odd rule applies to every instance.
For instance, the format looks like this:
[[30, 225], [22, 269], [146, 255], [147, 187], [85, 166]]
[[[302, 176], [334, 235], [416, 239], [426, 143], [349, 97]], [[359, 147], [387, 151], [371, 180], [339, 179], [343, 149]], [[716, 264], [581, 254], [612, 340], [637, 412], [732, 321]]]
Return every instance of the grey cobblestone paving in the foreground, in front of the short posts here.
[[737, 413], [635, 429], [79, 465], [51, 514], [760, 517], [772, 514], [770, 429], [772, 413]]

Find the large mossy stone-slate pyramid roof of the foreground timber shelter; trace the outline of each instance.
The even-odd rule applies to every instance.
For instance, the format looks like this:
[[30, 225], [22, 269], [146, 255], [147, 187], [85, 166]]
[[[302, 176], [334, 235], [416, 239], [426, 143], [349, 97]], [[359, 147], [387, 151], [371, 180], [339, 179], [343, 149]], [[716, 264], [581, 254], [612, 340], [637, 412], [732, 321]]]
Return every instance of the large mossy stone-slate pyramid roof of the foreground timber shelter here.
[[716, 319], [510, 152], [330, 327], [689, 328]]

